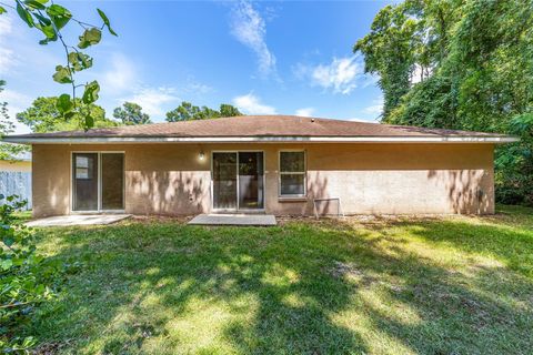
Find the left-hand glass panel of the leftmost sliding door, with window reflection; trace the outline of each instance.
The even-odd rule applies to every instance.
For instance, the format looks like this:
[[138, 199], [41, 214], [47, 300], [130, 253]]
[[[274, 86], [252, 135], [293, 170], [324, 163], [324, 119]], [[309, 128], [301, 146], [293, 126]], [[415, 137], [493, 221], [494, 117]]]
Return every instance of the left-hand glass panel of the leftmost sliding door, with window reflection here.
[[98, 210], [98, 154], [74, 153], [72, 156], [74, 211]]

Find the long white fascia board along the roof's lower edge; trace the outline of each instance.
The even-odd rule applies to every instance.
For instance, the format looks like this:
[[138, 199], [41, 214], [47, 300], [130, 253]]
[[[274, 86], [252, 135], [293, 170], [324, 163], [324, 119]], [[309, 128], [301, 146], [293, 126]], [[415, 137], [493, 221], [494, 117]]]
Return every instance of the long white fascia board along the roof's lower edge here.
[[19, 144], [120, 144], [120, 143], [512, 143], [514, 136], [88, 136], [10, 138]]

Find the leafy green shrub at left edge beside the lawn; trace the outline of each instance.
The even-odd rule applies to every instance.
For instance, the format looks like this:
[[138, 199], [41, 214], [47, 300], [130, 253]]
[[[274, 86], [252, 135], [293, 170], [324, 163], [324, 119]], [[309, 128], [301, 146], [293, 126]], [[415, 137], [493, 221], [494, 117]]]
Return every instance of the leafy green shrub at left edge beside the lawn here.
[[16, 195], [0, 200], [6, 201], [0, 205], [0, 352], [26, 353], [37, 339], [18, 328], [56, 296], [61, 275], [72, 267], [37, 253], [33, 231], [16, 215], [26, 201]]

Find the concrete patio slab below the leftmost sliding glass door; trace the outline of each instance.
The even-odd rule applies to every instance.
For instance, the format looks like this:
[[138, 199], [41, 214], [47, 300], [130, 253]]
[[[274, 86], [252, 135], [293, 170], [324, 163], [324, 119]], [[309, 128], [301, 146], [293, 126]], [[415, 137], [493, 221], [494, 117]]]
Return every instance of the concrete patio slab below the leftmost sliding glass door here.
[[131, 214], [71, 214], [39, 219], [26, 223], [28, 226], [72, 226], [111, 224], [130, 217]]

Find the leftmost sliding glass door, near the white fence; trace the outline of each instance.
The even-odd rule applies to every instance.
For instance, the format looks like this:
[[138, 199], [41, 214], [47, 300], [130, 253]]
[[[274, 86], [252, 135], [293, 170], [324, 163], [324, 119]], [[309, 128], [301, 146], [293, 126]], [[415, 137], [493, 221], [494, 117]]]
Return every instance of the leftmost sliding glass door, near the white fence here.
[[72, 210], [124, 210], [124, 154], [72, 154]]

